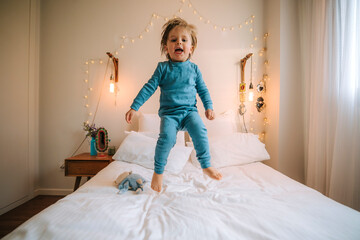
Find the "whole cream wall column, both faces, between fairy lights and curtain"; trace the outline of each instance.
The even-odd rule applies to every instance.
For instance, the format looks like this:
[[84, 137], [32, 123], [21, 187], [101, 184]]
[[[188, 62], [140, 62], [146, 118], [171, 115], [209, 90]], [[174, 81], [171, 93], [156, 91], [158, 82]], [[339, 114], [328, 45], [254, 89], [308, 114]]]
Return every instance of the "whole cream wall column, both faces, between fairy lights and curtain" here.
[[300, 81], [300, 43], [297, 1], [265, 1], [269, 32], [266, 144], [268, 164], [304, 183], [303, 89]]

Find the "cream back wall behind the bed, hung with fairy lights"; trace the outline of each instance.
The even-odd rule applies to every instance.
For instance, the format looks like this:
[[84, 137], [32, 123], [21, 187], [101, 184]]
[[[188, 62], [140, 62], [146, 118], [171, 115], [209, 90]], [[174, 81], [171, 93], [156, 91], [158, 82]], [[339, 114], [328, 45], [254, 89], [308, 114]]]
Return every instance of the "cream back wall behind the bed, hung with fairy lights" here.
[[[172, 17], [174, 13], [198, 27], [198, 48], [193, 62], [200, 67], [214, 101], [216, 113], [228, 109], [237, 110], [239, 61], [250, 51], [262, 47], [261, 40], [254, 36], [263, 34], [263, 1], [185, 1], [182, 13], [178, 10], [181, 1], [140, 0], [78, 0], [41, 2], [41, 51], [40, 51], [40, 189], [42, 193], [62, 193], [70, 190], [74, 178], [64, 177], [59, 168], [84, 138], [82, 123], [92, 119], [100, 94], [106, 69], [106, 52], [118, 51], [119, 95], [115, 98], [106, 87], [101, 92], [101, 102], [96, 115], [97, 126], [109, 131], [111, 143], [118, 146], [128, 126], [124, 114], [142, 87], [152, 75], [160, 55], [161, 26], [164, 18], [153, 19], [153, 13]], [[197, 14], [194, 14], [194, 9]], [[199, 20], [199, 14], [218, 25]], [[245, 19], [255, 15], [254, 31], [250, 33]], [[237, 24], [242, 23], [241, 29]], [[233, 26], [233, 31], [222, 31], [222, 26]], [[144, 32], [146, 27], [149, 32]], [[144, 32], [144, 33], [142, 33]], [[143, 38], [140, 39], [139, 35]], [[122, 36], [131, 37], [120, 49]], [[254, 49], [250, 44], [254, 42]], [[91, 63], [91, 59], [94, 63]], [[258, 56], [255, 79], [262, 76]], [[103, 64], [100, 64], [103, 60]], [[85, 64], [89, 61], [89, 64]], [[247, 65], [250, 68], [250, 64]], [[85, 71], [89, 71], [86, 74]], [[247, 70], [248, 71], [248, 70]], [[108, 74], [108, 73], [107, 73]], [[109, 75], [105, 78], [108, 79]], [[84, 79], [90, 82], [93, 91], [87, 91]], [[84, 95], [88, 95], [89, 109], [85, 108]], [[159, 91], [144, 104], [141, 111], [156, 113], [159, 107]], [[203, 114], [202, 104], [199, 110]], [[250, 110], [249, 110], [250, 111]], [[256, 112], [255, 112], [256, 113]], [[262, 126], [261, 122], [259, 124]], [[260, 127], [255, 130], [261, 130]], [[79, 152], [89, 151], [86, 142]]]

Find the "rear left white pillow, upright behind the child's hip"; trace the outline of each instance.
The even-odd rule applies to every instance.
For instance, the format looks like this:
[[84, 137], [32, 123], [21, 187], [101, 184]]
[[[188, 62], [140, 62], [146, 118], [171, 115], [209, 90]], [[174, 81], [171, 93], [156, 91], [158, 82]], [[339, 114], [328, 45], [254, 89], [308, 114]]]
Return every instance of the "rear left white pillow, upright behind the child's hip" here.
[[[155, 135], [149, 136], [158, 138], [160, 133], [160, 117], [157, 114], [149, 114], [149, 113], [141, 113], [139, 116], [139, 132], [146, 132], [149, 135], [153, 133]], [[176, 144], [180, 144], [181, 146], [185, 146], [185, 132], [178, 131], [176, 136]]]

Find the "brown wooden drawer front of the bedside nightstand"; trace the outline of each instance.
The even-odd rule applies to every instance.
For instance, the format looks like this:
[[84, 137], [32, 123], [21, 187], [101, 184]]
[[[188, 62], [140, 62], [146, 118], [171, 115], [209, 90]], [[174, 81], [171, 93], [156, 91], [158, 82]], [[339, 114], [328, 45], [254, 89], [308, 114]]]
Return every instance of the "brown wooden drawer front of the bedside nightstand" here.
[[109, 165], [106, 161], [65, 161], [65, 176], [94, 176]]

